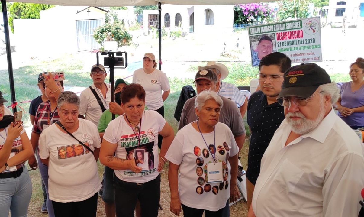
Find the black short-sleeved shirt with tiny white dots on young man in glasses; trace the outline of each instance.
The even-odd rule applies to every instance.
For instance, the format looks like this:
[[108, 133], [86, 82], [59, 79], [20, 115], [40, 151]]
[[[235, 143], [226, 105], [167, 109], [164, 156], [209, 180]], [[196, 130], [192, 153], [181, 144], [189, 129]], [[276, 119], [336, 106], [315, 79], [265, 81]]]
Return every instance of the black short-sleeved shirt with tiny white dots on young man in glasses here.
[[255, 185], [260, 171], [260, 161], [274, 132], [284, 120], [284, 110], [278, 102], [268, 105], [263, 92], [257, 91], [249, 98], [247, 117], [252, 135], [249, 143], [246, 178]]

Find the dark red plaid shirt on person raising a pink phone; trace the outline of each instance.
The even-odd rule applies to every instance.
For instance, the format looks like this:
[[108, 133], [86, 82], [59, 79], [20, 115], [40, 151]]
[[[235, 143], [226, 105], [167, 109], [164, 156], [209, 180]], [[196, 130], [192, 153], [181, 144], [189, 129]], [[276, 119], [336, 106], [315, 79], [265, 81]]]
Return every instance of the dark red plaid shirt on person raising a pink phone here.
[[54, 112], [51, 112], [51, 103], [42, 102], [39, 104], [37, 112], [35, 114], [34, 125], [32, 131], [34, 133], [41, 133], [43, 131], [43, 125], [52, 125], [59, 120], [57, 108]]

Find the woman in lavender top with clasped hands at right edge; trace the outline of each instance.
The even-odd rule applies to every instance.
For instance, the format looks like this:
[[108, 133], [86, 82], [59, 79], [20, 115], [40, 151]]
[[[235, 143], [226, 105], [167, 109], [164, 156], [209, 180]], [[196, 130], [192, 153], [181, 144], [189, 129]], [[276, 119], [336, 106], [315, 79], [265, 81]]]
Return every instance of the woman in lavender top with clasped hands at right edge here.
[[339, 110], [339, 117], [352, 129], [364, 127], [364, 59], [357, 58], [350, 65], [351, 82], [340, 88], [341, 97], [333, 106]]

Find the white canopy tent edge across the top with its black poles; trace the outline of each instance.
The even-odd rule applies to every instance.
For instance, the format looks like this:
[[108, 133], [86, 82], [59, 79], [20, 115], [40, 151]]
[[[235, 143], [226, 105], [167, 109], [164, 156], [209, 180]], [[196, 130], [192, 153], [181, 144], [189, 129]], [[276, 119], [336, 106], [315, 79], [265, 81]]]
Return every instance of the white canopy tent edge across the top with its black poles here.
[[[9, 0], [8, 0], [9, 1]], [[162, 4], [183, 4], [183, 5], [229, 5], [229, 4], [247, 4], [247, 3], [258, 3], [266, 2], [269, 0], [10, 0], [15, 2], [23, 3], [36, 3], [36, 4], [53, 4], [53, 5], [66, 5], [66, 6], [94, 6], [94, 7], [119, 7], [119, 6], [132, 6], [132, 5], [157, 5], [159, 11], [159, 27], [162, 29]], [[6, 0], [1, 0], [2, 11], [7, 11]], [[9, 72], [9, 83], [10, 83], [10, 95], [11, 101], [16, 102], [15, 98], [15, 85], [13, 77], [13, 67], [10, 50], [9, 40], [9, 25], [8, 15], [3, 13], [4, 19], [4, 33], [5, 33], [5, 47], [8, 60], [8, 72]], [[162, 31], [159, 32], [159, 61], [162, 59]], [[159, 64], [161, 70], [161, 64]], [[110, 81], [114, 82], [114, 81]], [[13, 112], [16, 111], [16, 107], [13, 106]]]

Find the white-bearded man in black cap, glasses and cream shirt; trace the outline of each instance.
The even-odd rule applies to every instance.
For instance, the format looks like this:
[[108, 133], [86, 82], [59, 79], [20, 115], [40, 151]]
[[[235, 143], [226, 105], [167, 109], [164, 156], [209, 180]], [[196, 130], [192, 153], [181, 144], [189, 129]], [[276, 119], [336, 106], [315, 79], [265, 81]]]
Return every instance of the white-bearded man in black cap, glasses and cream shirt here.
[[335, 82], [314, 63], [286, 70], [285, 119], [266, 149], [248, 217], [358, 216], [364, 148], [335, 114]]

